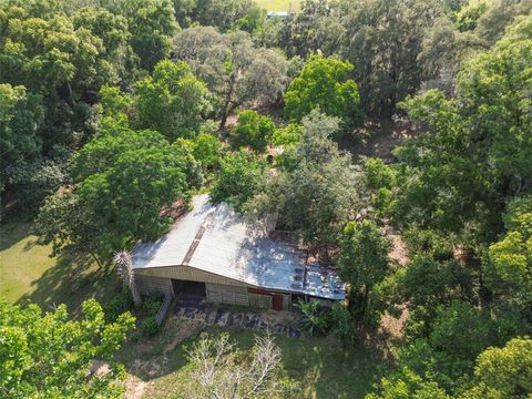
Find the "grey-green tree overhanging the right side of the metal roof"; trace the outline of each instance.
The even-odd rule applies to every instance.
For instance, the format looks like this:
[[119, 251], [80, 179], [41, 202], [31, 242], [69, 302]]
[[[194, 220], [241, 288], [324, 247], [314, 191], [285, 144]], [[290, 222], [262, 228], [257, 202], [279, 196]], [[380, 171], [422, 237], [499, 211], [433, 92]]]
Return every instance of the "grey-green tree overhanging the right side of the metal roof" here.
[[329, 249], [362, 206], [362, 178], [350, 156], [330, 139], [337, 119], [313, 111], [303, 119], [303, 129], [286, 167], [265, 175], [264, 188], [245, 211], [250, 217], [277, 214], [279, 226], [295, 232], [328, 262]]

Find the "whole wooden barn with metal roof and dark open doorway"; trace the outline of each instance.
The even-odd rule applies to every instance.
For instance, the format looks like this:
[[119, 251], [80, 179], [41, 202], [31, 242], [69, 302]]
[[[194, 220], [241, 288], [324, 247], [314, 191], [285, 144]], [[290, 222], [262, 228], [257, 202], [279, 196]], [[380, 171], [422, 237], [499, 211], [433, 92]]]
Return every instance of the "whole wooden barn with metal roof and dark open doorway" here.
[[345, 299], [332, 269], [306, 264], [288, 242], [273, 239], [227, 204], [197, 195], [193, 208], [162, 238], [139, 243], [132, 256], [142, 294], [171, 291], [209, 303], [289, 309], [297, 298]]

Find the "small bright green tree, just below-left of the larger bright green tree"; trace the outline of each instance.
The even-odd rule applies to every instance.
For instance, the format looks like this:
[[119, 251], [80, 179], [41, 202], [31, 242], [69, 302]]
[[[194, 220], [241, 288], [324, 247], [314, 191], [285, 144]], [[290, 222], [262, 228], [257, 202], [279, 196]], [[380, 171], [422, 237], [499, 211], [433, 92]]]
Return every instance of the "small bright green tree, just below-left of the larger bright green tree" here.
[[266, 151], [268, 139], [275, 130], [274, 120], [253, 110], [242, 111], [238, 123], [231, 130], [236, 147], [249, 146], [256, 153]]

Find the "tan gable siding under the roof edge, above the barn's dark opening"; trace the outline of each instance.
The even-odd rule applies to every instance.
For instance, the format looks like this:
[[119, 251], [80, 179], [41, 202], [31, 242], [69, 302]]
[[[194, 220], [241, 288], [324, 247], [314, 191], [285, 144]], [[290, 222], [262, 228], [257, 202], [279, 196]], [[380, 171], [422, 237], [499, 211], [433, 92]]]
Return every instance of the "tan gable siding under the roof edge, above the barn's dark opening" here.
[[213, 273], [196, 269], [190, 266], [163, 266], [133, 269], [137, 276], [153, 276], [162, 278], [176, 278], [188, 282], [232, 285], [247, 287], [248, 285], [232, 278], [218, 276]]

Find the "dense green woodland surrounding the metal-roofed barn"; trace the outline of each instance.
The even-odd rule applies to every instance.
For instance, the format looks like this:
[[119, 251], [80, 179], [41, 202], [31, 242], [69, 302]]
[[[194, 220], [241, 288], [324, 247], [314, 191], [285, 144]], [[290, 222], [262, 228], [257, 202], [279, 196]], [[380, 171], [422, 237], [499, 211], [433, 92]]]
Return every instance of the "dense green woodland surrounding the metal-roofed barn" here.
[[[267, 7], [0, 0], [0, 397], [135, 398], [116, 354], [157, 328], [113, 256], [208, 193], [338, 270], [345, 301], [298, 304], [308, 342], [381, 360], [313, 396], [293, 344], [207, 330], [156, 397], [530, 398], [532, 1]], [[73, 305], [19, 287], [38, 248]]]

